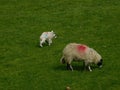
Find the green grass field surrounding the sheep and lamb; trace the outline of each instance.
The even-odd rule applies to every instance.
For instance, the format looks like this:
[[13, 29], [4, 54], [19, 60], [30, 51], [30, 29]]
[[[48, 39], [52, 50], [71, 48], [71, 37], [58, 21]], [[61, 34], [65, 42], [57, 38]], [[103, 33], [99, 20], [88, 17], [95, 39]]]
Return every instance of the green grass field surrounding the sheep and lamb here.
[[[51, 46], [39, 36], [54, 30]], [[0, 90], [120, 90], [120, 0], [0, 0]], [[96, 49], [103, 68], [60, 63], [66, 44]]]

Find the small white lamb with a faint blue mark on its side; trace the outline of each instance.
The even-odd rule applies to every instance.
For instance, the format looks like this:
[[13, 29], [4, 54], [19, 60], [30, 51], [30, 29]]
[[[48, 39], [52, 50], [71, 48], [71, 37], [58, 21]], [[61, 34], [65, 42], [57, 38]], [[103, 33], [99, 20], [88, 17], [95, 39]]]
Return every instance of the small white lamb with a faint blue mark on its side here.
[[49, 46], [52, 44], [52, 39], [56, 38], [56, 34], [53, 31], [43, 32], [40, 35], [40, 46], [43, 47], [43, 44], [47, 41]]

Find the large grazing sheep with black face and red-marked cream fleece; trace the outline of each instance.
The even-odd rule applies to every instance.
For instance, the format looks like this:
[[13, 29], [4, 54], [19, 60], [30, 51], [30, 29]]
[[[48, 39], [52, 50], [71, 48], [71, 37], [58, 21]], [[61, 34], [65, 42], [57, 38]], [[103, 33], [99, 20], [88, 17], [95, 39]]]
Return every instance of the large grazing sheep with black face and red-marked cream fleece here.
[[73, 71], [73, 67], [71, 65], [72, 61], [83, 61], [85, 68], [91, 72], [92, 69], [90, 65], [97, 64], [100, 68], [102, 67], [102, 57], [99, 53], [97, 53], [94, 49], [88, 47], [84, 44], [70, 43], [66, 45], [63, 50], [63, 56], [60, 60], [61, 63], [67, 64], [67, 69]]

